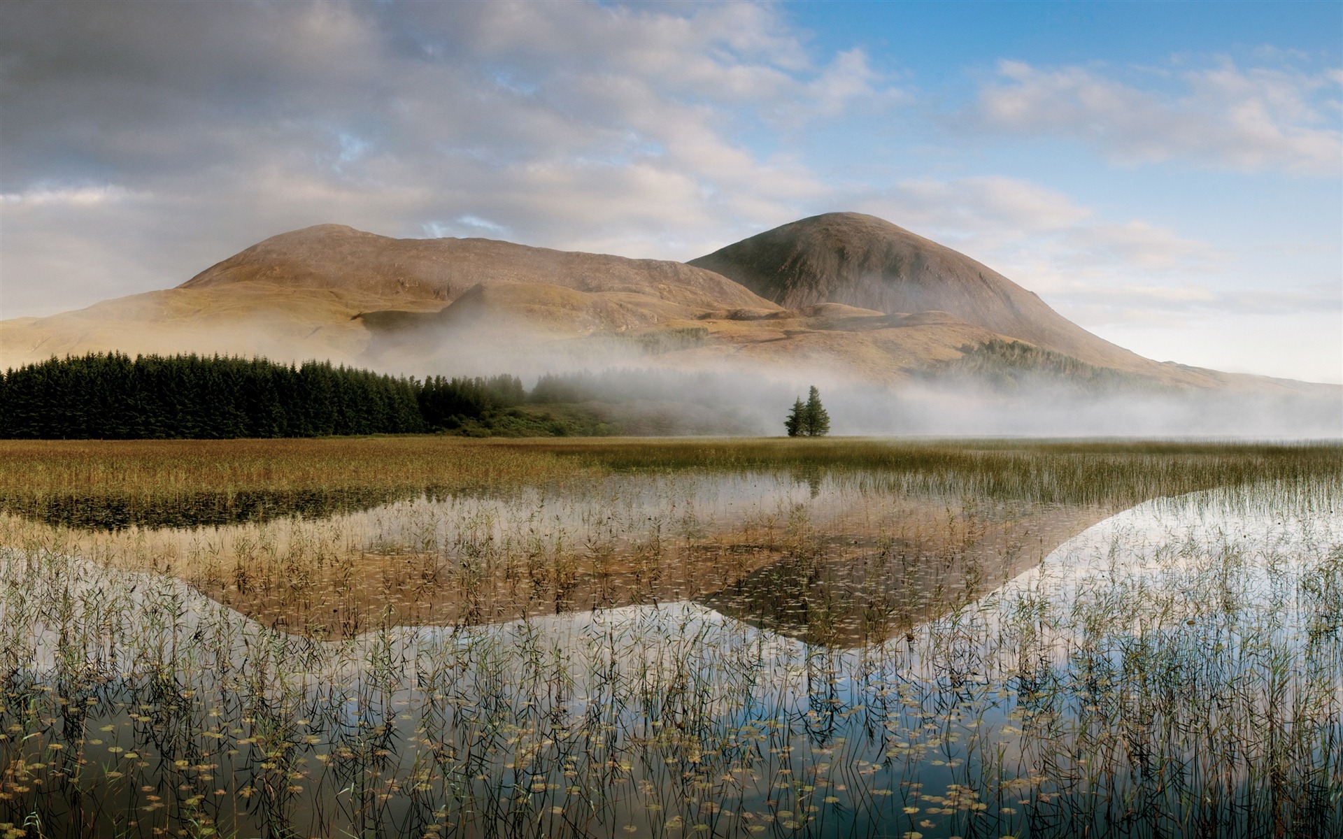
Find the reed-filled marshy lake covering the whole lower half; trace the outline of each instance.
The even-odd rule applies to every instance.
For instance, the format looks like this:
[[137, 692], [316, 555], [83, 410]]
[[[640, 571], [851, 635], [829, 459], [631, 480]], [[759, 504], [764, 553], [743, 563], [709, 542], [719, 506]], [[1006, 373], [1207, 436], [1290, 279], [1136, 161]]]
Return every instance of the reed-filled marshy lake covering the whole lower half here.
[[[0, 830], [1343, 828], [1336, 446], [313, 443], [290, 474], [259, 443], [126, 468], [411, 493], [0, 518]], [[28, 490], [7, 462], [7, 491], [115, 494], [125, 450], [66, 455]]]

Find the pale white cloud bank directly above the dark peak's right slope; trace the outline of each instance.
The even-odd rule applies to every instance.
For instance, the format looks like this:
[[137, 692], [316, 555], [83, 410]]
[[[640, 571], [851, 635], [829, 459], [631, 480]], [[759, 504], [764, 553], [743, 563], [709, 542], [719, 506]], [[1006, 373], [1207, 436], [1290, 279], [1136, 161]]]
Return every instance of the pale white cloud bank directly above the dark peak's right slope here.
[[[1284, 270], [1289, 255], [1277, 250], [1233, 252], [1150, 221], [1113, 221], [1015, 179], [902, 181], [861, 205], [956, 247], [1148, 357], [1343, 381], [1336, 244], [1305, 248], [1312, 258], [1335, 254], [1332, 279], [1312, 283]], [[1262, 266], [1281, 274], [1265, 275]]]

